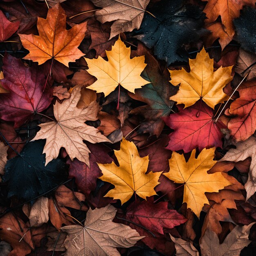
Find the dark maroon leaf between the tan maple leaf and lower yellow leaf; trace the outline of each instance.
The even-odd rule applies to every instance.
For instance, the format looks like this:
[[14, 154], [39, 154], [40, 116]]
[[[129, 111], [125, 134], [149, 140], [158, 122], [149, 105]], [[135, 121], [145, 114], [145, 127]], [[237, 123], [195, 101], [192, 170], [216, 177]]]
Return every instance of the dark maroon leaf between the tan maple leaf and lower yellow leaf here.
[[70, 164], [69, 175], [76, 178], [76, 184], [79, 189], [88, 196], [91, 191], [96, 188], [96, 180], [101, 176], [101, 170], [97, 163], [110, 164], [113, 159], [108, 155], [110, 149], [104, 145], [87, 144], [90, 153], [90, 168], [79, 160], [73, 162], [68, 160]]

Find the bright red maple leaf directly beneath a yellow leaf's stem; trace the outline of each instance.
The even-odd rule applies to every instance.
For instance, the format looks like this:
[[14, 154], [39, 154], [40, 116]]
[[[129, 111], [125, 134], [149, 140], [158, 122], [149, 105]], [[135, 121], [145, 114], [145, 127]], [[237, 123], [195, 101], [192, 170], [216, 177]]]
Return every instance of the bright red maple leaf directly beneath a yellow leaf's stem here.
[[222, 148], [221, 129], [226, 126], [220, 120], [215, 123], [213, 118], [213, 110], [205, 103], [200, 106], [199, 102], [164, 118], [166, 125], [174, 129], [166, 148], [175, 151], [183, 149], [185, 153], [196, 147], [200, 151], [213, 146]]

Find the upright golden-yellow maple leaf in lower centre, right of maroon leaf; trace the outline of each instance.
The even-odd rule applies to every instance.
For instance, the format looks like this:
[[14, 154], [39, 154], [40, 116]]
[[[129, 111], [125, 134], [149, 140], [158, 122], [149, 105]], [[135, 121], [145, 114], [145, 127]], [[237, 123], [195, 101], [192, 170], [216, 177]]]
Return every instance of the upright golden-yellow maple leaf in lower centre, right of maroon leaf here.
[[148, 168], [148, 156], [140, 157], [133, 142], [123, 138], [120, 150], [115, 150], [119, 162], [117, 166], [111, 164], [98, 164], [103, 176], [99, 179], [115, 185], [105, 196], [127, 202], [136, 193], [141, 198], [156, 195], [154, 187], [159, 184], [158, 179], [162, 172], [145, 174]]

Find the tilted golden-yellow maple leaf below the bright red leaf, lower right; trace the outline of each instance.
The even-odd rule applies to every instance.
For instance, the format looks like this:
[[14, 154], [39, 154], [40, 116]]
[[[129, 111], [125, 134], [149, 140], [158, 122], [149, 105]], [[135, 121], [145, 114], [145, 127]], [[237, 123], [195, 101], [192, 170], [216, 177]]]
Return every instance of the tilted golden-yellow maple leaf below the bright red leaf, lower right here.
[[213, 160], [214, 151], [215, 148], [204, 148], [198, 158], [195, 158], [194, 149], [188, 162], [183, 155], [173, 152], [169, 159], [170, 171], [164, 173], [175, 183], [184, 183], [183, 202], [187, 203], [187, 207], [198, 217], [204, 204], [209, 204], [205, 192], [218, 192], [232, 184], [220, 172], [207, 173], [217, 162]]

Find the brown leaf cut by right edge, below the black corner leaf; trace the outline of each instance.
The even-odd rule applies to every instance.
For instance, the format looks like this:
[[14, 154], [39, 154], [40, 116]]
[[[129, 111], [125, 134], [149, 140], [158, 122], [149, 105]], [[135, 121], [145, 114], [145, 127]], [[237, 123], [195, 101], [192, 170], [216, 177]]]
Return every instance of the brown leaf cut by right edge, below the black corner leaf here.
[[255, 62], [256, 54], [239, 49], [235, 71], [243, 77], [249, 73], [247, 75], [247, 81], [252, 80], [256, 77], [256, 66], [254, 65]]

